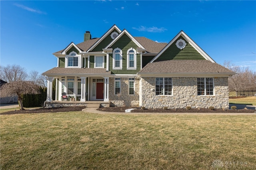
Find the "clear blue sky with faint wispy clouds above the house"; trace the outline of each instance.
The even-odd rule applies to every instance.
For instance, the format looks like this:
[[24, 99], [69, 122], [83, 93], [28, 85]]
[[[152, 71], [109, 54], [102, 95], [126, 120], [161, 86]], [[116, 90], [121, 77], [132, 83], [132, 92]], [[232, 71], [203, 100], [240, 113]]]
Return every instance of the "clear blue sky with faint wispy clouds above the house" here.
[[52, 55], [85, 31], [116, 24], [134, 37], [169, 43], [183, 30], [216, 63], [256, 71], [256, 1], [0, 1], [0, 65], [28, 72], [57, 66]]

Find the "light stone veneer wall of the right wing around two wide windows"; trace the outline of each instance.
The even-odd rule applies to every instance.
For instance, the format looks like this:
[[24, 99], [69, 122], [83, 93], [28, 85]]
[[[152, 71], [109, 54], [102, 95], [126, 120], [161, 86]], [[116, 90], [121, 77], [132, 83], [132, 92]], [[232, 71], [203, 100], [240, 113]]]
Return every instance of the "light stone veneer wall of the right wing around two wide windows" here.
[[172, 96], [156, 96], [155, 77], [142, 77], [142, 106], [146, 108], [229, 108], [228, 77], [214, 78], [214, 96], [197, 95], [197, 77], [173, 77]]

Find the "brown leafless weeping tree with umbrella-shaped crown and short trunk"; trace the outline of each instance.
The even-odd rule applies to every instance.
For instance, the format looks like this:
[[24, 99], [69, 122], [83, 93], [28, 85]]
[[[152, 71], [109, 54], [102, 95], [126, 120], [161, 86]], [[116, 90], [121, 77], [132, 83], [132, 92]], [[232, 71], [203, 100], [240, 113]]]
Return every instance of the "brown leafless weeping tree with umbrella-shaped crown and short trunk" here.
[[24, 110], [22, 104], [22, 95], [24, 94], [39, 94], [39, 87], [31, 81], [14, 81], [1, 86], [1, 97], [18, 96], [20, 109]]

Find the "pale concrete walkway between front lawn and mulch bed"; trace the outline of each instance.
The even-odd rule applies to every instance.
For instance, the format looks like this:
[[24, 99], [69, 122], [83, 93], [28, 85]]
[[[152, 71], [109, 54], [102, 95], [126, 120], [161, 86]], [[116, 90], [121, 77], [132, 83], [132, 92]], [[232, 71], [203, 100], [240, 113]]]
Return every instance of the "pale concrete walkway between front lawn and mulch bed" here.
[[123, 115], [256, 115], [256, 113], [142, 113], [142, 112], [108, 112], [98, 111], [97, 108], [85, 108], [82, 111], [86, 113], [98, 113], [98, 114], [123, 114]]

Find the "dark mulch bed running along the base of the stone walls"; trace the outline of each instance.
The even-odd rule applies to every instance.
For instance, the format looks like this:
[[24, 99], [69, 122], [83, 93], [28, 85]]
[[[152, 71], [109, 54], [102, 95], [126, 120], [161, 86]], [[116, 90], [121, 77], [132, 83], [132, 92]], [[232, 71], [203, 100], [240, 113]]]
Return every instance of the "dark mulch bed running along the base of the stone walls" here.
[[[100, 107], [97, 110], [99, 111], [109, 111], [109, 112], [125, 112], [126, 109], [131, 109], [136, 107]], [[134, 109], [131, 112], [140, 112], [140, 113], [254, 113], [256, 110], [253, 109]]]

